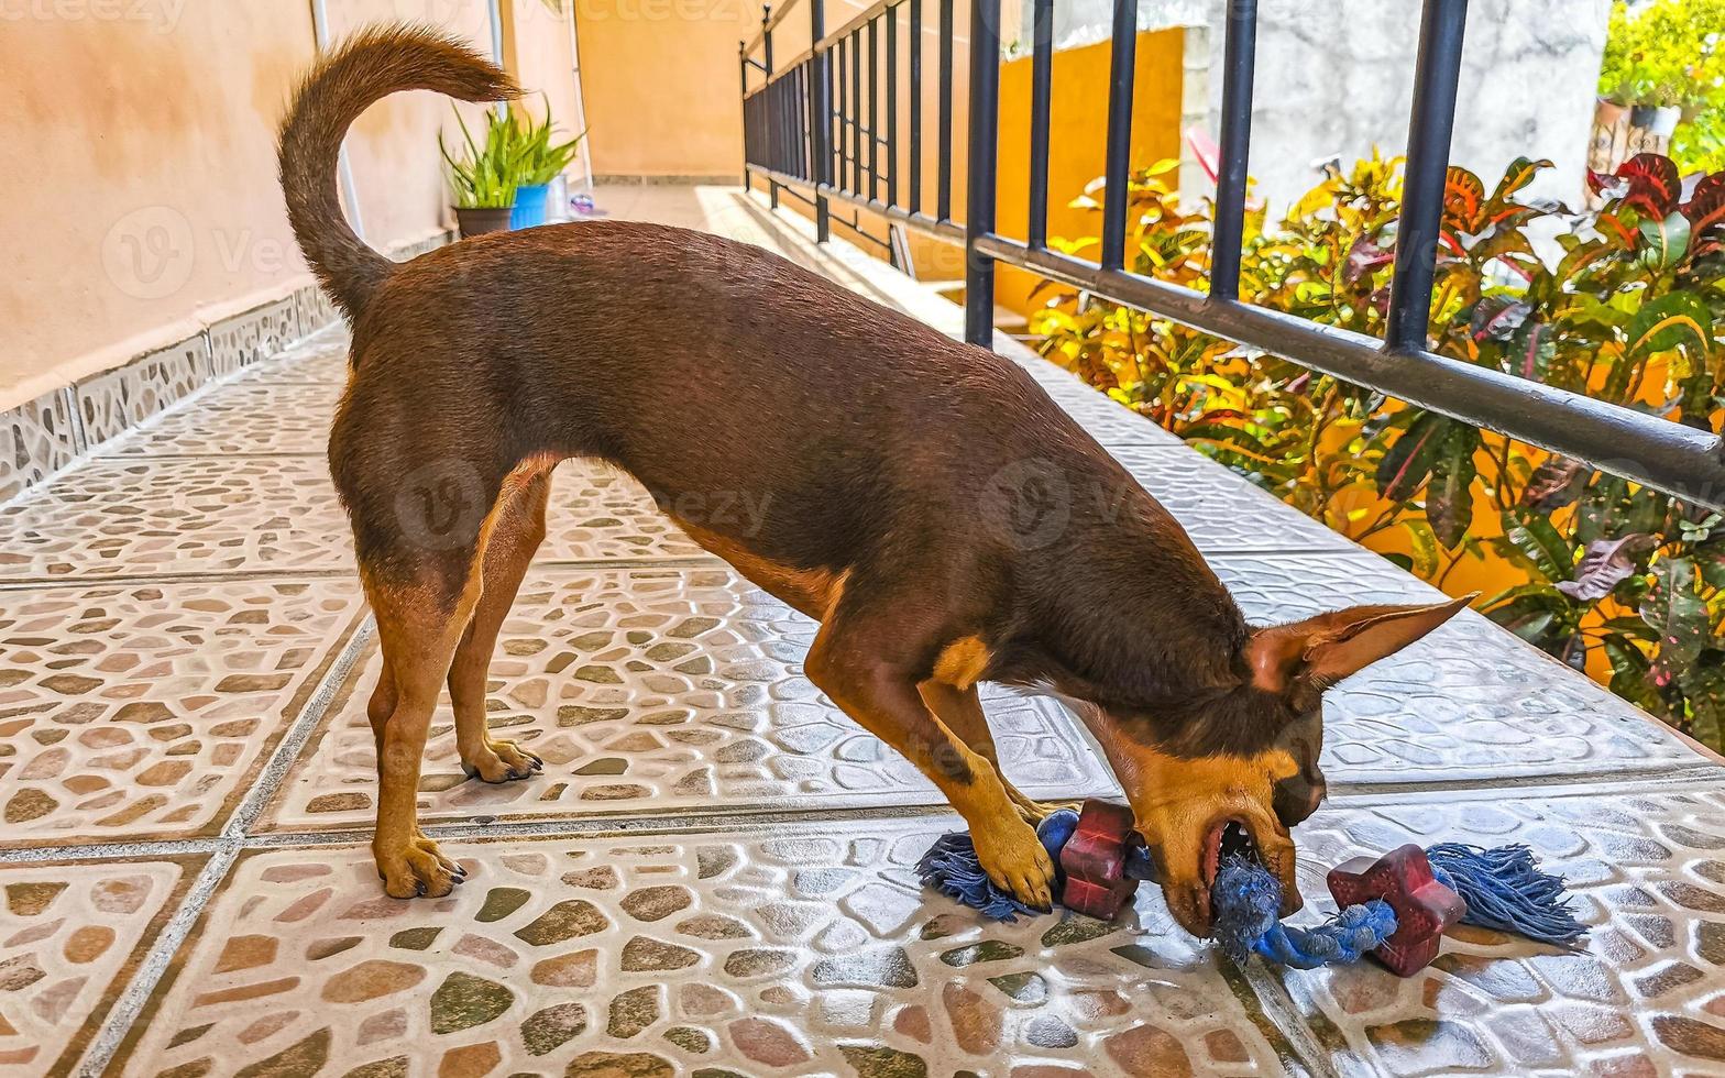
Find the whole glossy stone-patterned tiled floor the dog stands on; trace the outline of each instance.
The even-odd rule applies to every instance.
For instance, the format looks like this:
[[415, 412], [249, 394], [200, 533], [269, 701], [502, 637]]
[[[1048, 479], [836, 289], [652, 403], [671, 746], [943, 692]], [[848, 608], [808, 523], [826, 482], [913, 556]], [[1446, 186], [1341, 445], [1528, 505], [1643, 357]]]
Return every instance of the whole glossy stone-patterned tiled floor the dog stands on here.
[[[957, 310], [735, 191], [602, 191]], [[433, 719], [421, 811], [471, 871], [385, 899], [376, 647], [323, 462], [345, 342], [247, 367], [0, 505], [0, 1073], [1725, 1075], [1725, 799], [1663, 726], [1477, 616], [1328, 697], [1321, 869], [1528, 842], [1592, 935], [1458, 931], [1402, 981], [1237, 968], [1154, 888], [1116, 924], [988, 924], [911, 866], [935, 792], [802, 676], [812, 623], [626, 476], [566, 464], [504, 626], [486, 787]], [[1420, 581], [1025, 359], [1259, 621]], [[1056, 704], [988, 700], [1030, 792], [1113, 790]]]

